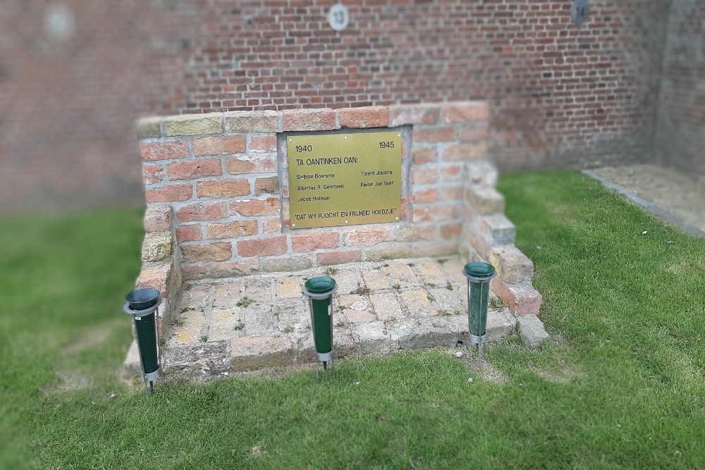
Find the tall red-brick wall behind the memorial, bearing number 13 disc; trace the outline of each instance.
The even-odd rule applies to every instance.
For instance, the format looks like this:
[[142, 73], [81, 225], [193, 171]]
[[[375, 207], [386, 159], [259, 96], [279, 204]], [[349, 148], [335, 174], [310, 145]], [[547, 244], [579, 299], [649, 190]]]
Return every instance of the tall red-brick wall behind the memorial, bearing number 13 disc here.
[[155, 113], [487, 99], [501, 167], [646, 158], [670, 0], [594, 0], [580, 26], [568, 0], [343, 3], [338, 33], [333, 0], [65, 0], [68, 27], [7, 0], [3, 209], [134, 201]]

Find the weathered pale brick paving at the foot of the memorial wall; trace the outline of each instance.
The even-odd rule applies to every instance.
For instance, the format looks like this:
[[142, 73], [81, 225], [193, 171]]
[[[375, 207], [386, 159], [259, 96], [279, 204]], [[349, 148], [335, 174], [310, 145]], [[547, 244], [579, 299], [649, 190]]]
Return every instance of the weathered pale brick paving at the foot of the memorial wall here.
[[[396, 259], [345, 264], [336, 272], [312, 268], [185, 283], [165, 334], [164, 372], [207, 380], [268, 366], [314, 364], [302, 286], [325, 275], [338, 283], [333, 296], [336, 358], [467, 346], [463, 264], [457, 257]], [[515, 324], [507, 307], [491, 302], [489, 341], [513, 332]]]

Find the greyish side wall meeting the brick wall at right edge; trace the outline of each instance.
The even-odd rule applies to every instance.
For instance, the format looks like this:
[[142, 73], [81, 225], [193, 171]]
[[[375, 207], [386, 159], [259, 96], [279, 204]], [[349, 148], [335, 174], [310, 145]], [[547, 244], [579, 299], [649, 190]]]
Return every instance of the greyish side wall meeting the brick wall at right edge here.
[[705, 180], [705, 4], [675, 0], [663, 62], [656, 161]]

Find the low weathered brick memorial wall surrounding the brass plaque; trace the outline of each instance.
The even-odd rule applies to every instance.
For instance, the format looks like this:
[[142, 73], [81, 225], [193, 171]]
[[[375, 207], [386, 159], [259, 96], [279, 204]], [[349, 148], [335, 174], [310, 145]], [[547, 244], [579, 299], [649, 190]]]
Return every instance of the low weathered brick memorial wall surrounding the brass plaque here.
[[[494, 190], [488, 118], [484, 101], [145, 118], [147, 214], [173, 211], [185, 279], [462, 252], [530, 280], [530, 261], [516, 273], [503, 257], [521, 253]], [[364, 128], [403, 133], [400, 221], [291, 229], [286, 137]]]

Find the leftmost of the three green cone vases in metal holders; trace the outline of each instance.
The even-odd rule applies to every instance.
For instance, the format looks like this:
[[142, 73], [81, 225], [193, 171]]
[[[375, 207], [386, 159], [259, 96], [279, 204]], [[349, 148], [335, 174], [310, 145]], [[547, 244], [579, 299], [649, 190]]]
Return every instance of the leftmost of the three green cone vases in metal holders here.
[[[133, 317], [137, 331], [137, 350], [140, 352], [142, 379], [145, 381], [145, 393], [154, 391], [154, 381], [161, 377], [159, 361], [159, 319], [157, 309], [161, 305], [159, 290], [153, 288], [137, 289], [125, 296], [123, 310]], [[147, 388], [149, 383], [149, 388]]]

